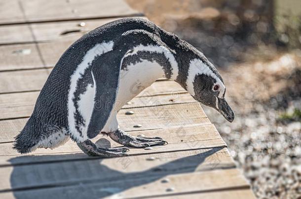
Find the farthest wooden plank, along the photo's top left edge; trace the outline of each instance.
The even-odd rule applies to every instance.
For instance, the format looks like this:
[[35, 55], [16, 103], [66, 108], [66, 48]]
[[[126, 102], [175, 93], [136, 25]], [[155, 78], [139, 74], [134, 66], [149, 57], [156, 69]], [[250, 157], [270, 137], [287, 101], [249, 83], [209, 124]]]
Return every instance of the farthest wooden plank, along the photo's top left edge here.
[[1, 3], [0, 25], [143, 15], [124, 0], [9, 0]]

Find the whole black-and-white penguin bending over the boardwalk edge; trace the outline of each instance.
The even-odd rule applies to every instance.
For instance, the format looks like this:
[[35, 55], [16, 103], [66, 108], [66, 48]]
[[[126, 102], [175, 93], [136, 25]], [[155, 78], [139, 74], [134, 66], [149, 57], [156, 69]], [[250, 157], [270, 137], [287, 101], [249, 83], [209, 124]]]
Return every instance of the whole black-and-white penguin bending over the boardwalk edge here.
[[223, 79], [201, 52], [146, 19], [123, 18], [90, 31], [67, 49], [14, 148], [29, 153], [71, 138], [91, 156], [126, 155], [127, 147], [99, 148], [89, 140], [100, 132], [124, 146], [163, 145], [166, 142], [158, 137], [126, 134], [116, 118], [124, 104], [162, 77], [233, 121]]

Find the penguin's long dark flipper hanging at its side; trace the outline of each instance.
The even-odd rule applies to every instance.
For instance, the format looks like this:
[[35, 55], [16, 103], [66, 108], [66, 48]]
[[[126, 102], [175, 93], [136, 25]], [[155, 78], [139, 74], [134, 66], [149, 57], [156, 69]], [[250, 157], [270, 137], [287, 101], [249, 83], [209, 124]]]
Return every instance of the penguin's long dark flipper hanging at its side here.
[[92, 77], [95, 87], [94, 107], [88, 126], [88, 138], [94, 138], [105, 126], [113, 110], [119, 84], [123, 55], [113, 50], [93, 61]]

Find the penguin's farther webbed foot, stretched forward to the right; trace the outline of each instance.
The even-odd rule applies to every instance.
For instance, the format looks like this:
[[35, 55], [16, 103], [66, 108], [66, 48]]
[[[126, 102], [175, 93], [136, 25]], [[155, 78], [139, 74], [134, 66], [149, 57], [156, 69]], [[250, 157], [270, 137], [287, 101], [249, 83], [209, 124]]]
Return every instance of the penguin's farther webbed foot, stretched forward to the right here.
[[135, 148], [145, 148], [154, 145], [164, 145], [165, 143], [167, 143], [165, 140], [159, 137], [136, 137], [128, 135], [127, 133], [119, 129], [109, 133], [109, 136], [115, 142], [118, 142], [124, 146], [130, 146]]

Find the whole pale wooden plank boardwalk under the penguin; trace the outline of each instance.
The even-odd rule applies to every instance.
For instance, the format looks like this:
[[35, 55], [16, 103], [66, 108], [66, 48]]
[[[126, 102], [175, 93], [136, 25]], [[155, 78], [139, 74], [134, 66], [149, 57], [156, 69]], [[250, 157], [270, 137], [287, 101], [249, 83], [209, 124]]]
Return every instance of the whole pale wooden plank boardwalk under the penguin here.
[[[174, 82], [155, 82], [118, 114], [131, 135], [168, 145], [110, 159], [88, 157], [71, 141], [29, 155], [12, 149], [61, 54], [125, 16], [141, 14], [123, 0], [0, 1], [0, 198], [254, 198], [214, 125]], [[103, 136], [93, 142], [118, 145]]]

